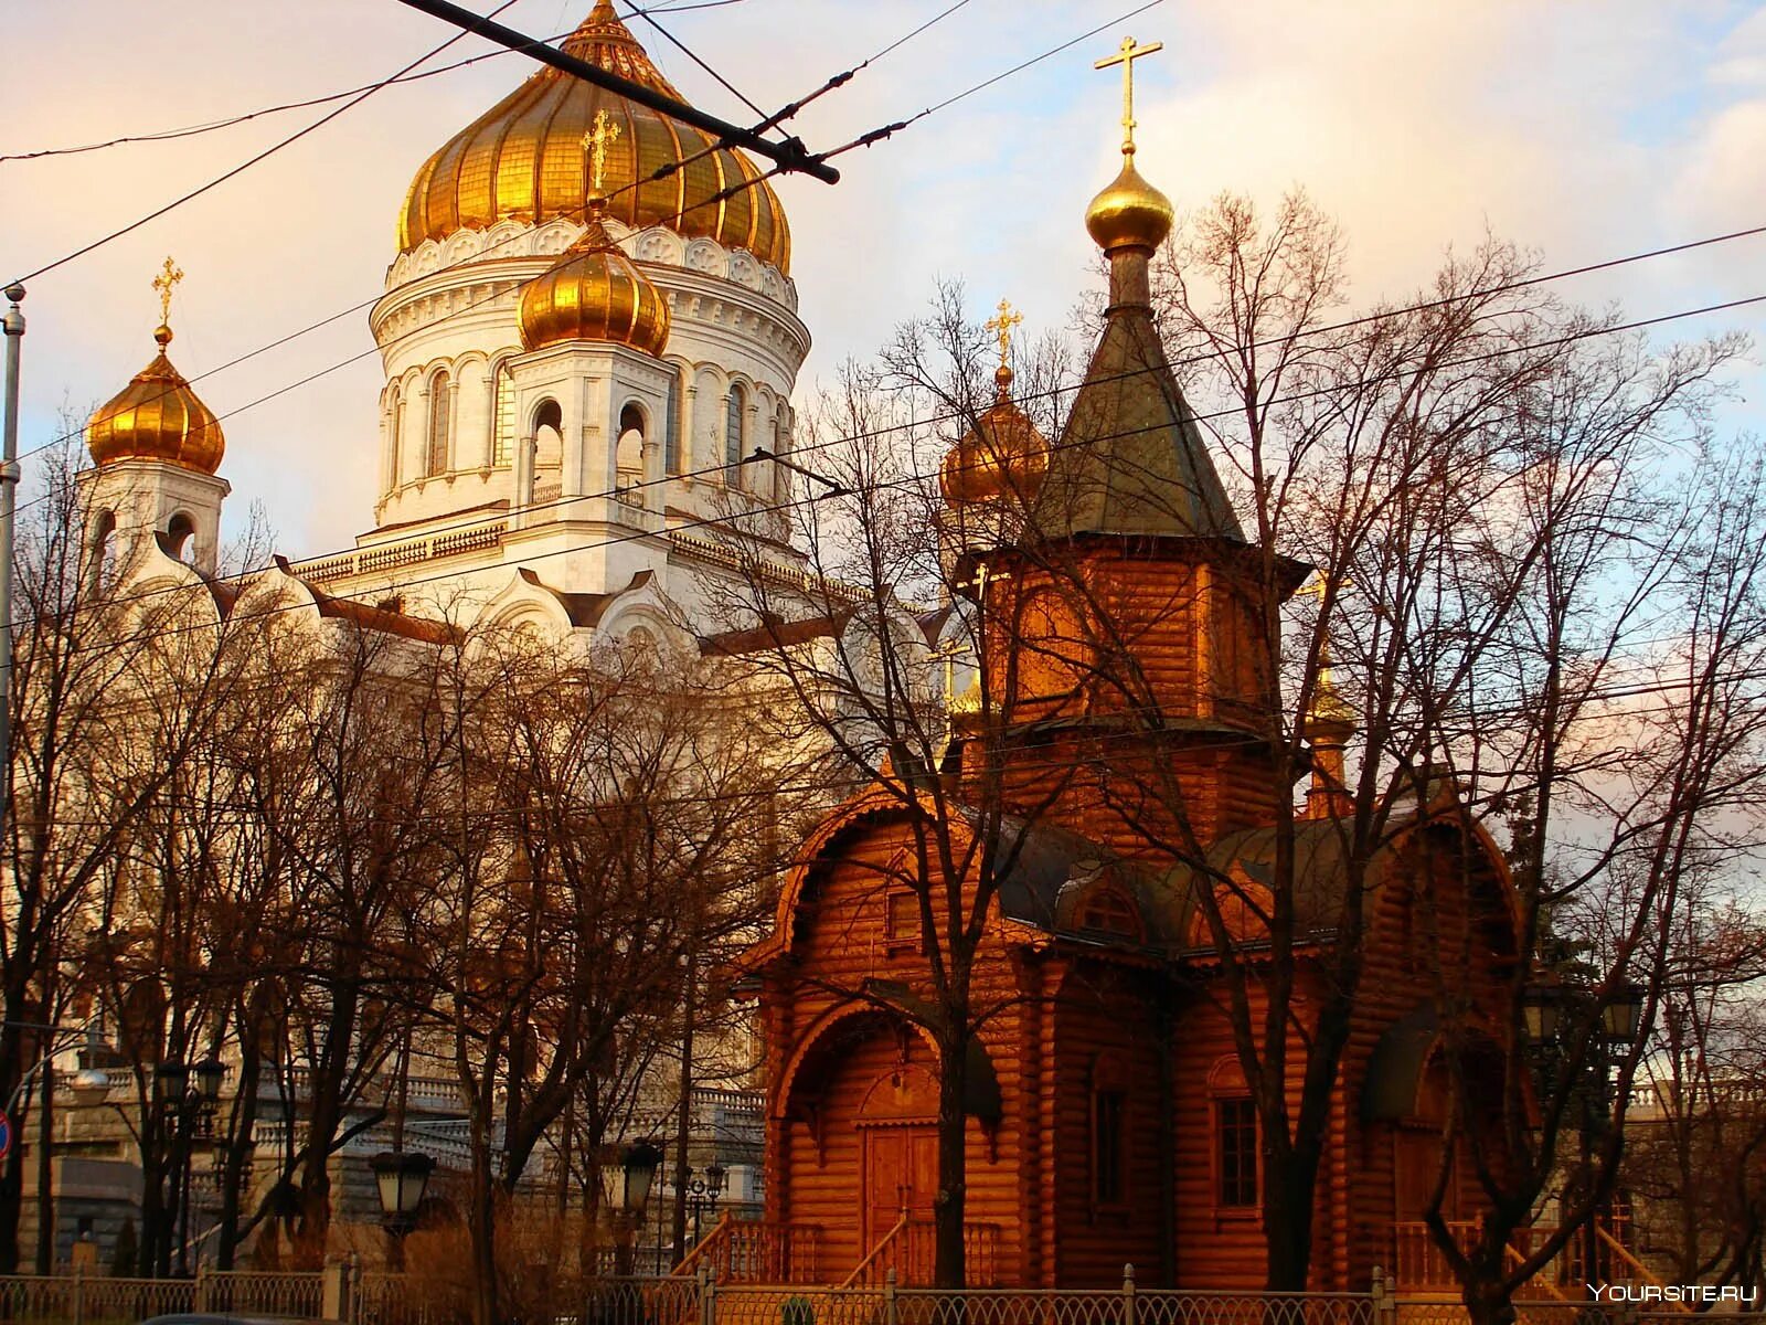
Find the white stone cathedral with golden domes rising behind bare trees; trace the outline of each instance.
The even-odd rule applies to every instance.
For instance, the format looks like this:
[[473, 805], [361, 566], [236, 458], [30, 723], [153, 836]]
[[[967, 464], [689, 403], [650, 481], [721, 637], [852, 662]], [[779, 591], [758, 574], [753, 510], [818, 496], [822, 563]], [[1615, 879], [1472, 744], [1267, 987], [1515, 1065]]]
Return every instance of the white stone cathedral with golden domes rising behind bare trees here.
[[[678, 99], [608, 0], [563, 49]], [[784, 208], [740, 152], [540, 69], [417, 171], [369, 325], [374, 526], [284, 567], [318, 615], [678, 632], [729, 572], [721, 521], [800, 574], [777, 461], [811, 341]], [[164, 318], [155, 339], [94, 415], [83, 479], [94, 564], [131, 581], [214, 572], [228, 495]]]

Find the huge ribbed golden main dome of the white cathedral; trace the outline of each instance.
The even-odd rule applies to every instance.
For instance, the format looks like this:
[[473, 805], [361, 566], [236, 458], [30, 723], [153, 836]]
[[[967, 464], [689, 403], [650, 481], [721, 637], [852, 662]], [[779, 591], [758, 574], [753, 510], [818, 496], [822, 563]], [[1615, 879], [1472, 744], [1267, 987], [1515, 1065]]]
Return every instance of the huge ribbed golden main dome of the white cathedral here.
[[[563, 49], [680, 97], [608, 0], [597, 0]], [[581, 221], [588, 201], [583, 140], [597, 111], [606, 111], [620, 131], [608, 150], [608, 216], [632, 228], [660, 224], [687, 238], [747, 249], [789, 274], [791, 231], [779, 196], [754, 184], [719, 200], [726, 187], [759, 178], [754, 163], [735, 150], [710, 152], [712, 134], [551, 67], [457, 132], [417, 171], [399, 217], [399, 249], [410, 253], [427, 238], [487, 230], [509, 217], [532, 224], [560, 216]], [[650, 178], [673, 161], [691, 164]]]

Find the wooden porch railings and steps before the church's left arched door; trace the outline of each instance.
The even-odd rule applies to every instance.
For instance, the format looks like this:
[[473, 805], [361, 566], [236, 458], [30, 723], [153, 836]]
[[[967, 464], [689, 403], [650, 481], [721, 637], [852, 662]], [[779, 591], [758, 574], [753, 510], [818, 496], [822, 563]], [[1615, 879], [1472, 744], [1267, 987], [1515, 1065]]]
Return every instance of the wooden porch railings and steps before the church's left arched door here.
[[[971, 1288], [1000, 1283], [1000, 1226], [964, 1224], [962, 1244]], [[821, 1228], [724, 1215], [675, 1274], [710, 1272], [721, 1284], [881, 1284], [888, 1272], [902, 1286], [931, 1284], [934, 1261], [931, 1217], [904, 1214], [857, 1265], [832, 1265], [823, 1254]]]

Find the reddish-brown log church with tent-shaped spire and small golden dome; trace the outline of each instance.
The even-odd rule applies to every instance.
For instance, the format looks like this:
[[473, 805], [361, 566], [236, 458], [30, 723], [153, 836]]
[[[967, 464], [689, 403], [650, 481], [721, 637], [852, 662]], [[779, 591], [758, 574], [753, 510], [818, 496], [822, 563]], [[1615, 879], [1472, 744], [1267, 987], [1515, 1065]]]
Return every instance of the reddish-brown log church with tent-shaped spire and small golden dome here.
[[[1051, 447], [1035, 435], [1001, 369], [1000, 403], [945, 470], [947, 500], [959, 511], [975, 512], [1005, 488], [1035, 491], [1026, 528], [968, 553], [975, 592], [985, 595], [980, 610], [1014, 622], [1012, 631], [989, 625], [984, 648], [1024, 652], [980, 670], [1000, 731], [994, 749], [1005, 753], [1001, 795], [1007, 806], [1037, 806], [1017, 829], [1007, 823], [1007, 837], [1019, 837], [973, 968], [975, 1003], [989, 1014], [964, 1090], [968, 1281], [1107, 1286], [1121, 1283], [1127, 1261], [1148, 1286], [1259, 1288], [1264, 1145], [1219, 1005], [1219, 947], [1197, 889], [1231, 878], [1240, 896], [1254, 896], [1275, 866], [1273, 723], [1257, 710], [1266, 687], [1247, 659], [1264, 648], [1273, 617], [1263, 611], [1259, 595], [1272, 592], [1263, 587], [1287, 597], [1310, 572], [1247, 541], [1166, 366], [1148, 263], [1173, 210], [1136, 171], [1132, 134], [1123, 152], [1120, 177], [1086, 217], [1111, 263], [1111, 300], [1063, 436]], [[1120, 638], [1132, 640], [1166, 719], [1157, 751], [1118, 721], [1113, 707], [1125, 700], [1074, 680], [1081, 636], [1040, 648], [1026, 641], [1038, 624], [1051, 638], [1060, 632], [1072, 595], [1053, 592], [1056, 574], [1107, 604]], [[1116, 733], [1114, 767], [1164, 761], [1183, 788], [1183, 832], [1203, 843], [1206, 869], [1194, 855], [1185, 866], [1167, 836], [1130, 823], [1136, 816], [1111, 802], [1100, 784], [1109, 768], [1095, 770], [1100, 730]], [[1324, 687], [1309, 731], [1312, 793], [1293, 832], [1298, 935], [1332, 926], [1342, 906], [1340, 779], [1353, 730]], [[1480, 954], [1475, 982], [1501, 979], [1513, 950], [1492, 844], [1457, 816], [1436, 814], [1427, 797], [1393, 807], [1393, 825], [1363, 874], [1365, 996], [1316, 1187], [1316, 1290], [1365, 1288], [1376, 1265], [1413, 1281], [1427, 1272], [1420, 1221], [1443, 1170], [1448, 1090], [1430, 1051], [1438, 984], [1418, 956], [1418, 899], [1439, 885], [1438, 929], [1453, 922], [1453, 908], [1436, 903], [1473, 899], [1459, 915], [1460, 933], [1475, 938], [1466, 947]], [[745, 958], [766, 1042], [766, 1217], [722, 1228], [722, 1246], [708, 1246], [733, 1277], [931, 1276], [940, 1072], [911, 1000], [929, 961], [920, 892], [954, 882], [927, 880], [917, 892], [902, 882], [915, 859], [924, 853], [904, 797], [883, 788], [855, 797], [811, 837], [777, 928]], [[1245, 961], [1256, 965], [1259, 935], [1243, 913], [1240, 922]], [[1323, 979], [1302, 943], [1302, 1023]], [[1302, 1062], [1296, 1049], [1291, 1094]], [[1450, 1170], [1445, 1182], [1448, 1215], [1473, 1217], [1471, 1175]]]

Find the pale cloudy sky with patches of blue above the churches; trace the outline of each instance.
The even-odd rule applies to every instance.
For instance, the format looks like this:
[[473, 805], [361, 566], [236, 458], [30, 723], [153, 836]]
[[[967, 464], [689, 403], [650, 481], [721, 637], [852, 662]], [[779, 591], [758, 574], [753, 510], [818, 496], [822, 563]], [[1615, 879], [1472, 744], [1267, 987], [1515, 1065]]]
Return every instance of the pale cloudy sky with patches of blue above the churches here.
[[[468, 2], [480, 12], [493, 7]], [[962, 281], [977, 318], [1003, 295], [1023, 309], [1024, 332], [1068, 325], [1098, 276], [1084, 208], [1120, 164], [1120, 71], [1091, 65], [1123, 35], [1164, 42], [1136, 65], [1143, 175], [1180, 212], [1224, 191], [1270, 208], [1305, 187], [1347, 238], [1347, 311], [1408, 299], [1445, 253], [1487, 233], [1561, 270], [1766, 224], [1759, 7], [1164, 0], [1113, 21], [1143, 2], [968, 0], [795, 122], [812, 150], [830, 147], [1106, 25], [888, 141], [849, 152], [837, 186], [777, 182], [800, 316], [814, 337], [800, 398], [841, 360], [872, 353], [940, 281]], [[772, 110], [948, 4], [728, 0], [657, 18]], [[500, 21], [553, 35], [588, 7], [516, 0]], [[397, 0], [9, 9], [0, 157], [355, 88], [454, 34]], [[655, 28], [629, 21], [691, 101], [756, 118]], [[434, 64], [487, 49], [466, 37]], [[187, 274], [171, 357], [191, 378], [371, 300], [394, 256], [411, 175], [528, 71], [523, 57], [500, 55], [390, 87], [203, 198], [34, 279], [21, 449], [65, 431], [64, 417], [83, 419], [147, 364], [159, 313], [150, 281], [168, 254]], [[162, 207], [327, 110], [178, 141], [0, 161], [0, 277]], [[1634, 318], [1762, 295], [1766, 237], [1577, 277], [1559, 293]], [[1690, 318], [1671, 334], [1761, 336], [1762, 307]], [[291, 556], [350, 546], [371, 525], [380, 382], [366, 313], [201, 380], [198, 392], [224, 417], [230, 526], [261, 504]], [[1757, 357], [1736, 375], [1722, 422], [1766, 426]]]

